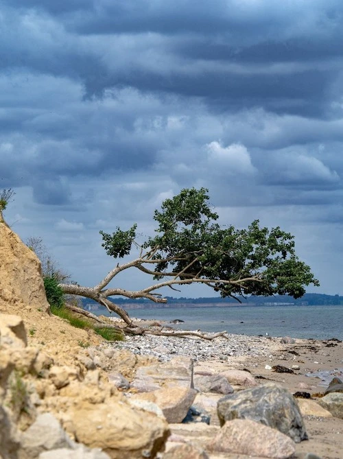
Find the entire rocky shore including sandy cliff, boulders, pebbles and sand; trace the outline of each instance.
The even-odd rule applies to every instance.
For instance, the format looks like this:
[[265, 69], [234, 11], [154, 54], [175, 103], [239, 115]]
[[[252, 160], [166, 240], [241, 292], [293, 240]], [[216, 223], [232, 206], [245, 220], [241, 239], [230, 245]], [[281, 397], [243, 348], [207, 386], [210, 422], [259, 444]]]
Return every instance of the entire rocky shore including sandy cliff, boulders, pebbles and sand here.
[[0, 253], [0, 459], [342, 459], [339, 340], [105, 342], [49, 315], [3, 222]]

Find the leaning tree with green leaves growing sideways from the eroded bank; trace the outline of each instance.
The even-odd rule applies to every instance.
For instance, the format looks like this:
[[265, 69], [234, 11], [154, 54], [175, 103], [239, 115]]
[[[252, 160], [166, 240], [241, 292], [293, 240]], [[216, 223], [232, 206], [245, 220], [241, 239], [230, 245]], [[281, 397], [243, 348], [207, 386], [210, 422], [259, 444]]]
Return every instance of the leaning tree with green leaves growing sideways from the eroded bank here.
[[[110, 257], [122, 259], [130, 255], [133, 246], [139, 249], [139, 256], [116, 263], [94, 287], [61, 283], [63, 292], [97, 301], [126, 322], [123, 331], [142, 333], [127, 312], [115, 304], [113, 296], [166, 303], [167, 299], [158, 292], [162, 287], [175, 289], [178, 285], [200, 283], [222, 297], [238, 301], [239, 296], [250, 294], [288, 294], [299, 298], [306, 285], [319, 285], [309, 266], [298, 259], [294, 236], [279, 226], [262, 228], [258, 220], [247, 229], [223, 228], [215, 222], [218, 215], [209, 205], [207, 193], [204, 188], [182, 189], [174, 198], [165, 200], [161, 210], [154, 212], [156, 234], [143, 244], [137, 241], [137, 224], [127, 231], [117, 227], [113, 234], [100, 231], [102, 246]], [[108, 286], [115, 276], [128, 269], [137, 269], [154, 282], [141, 290]]]

